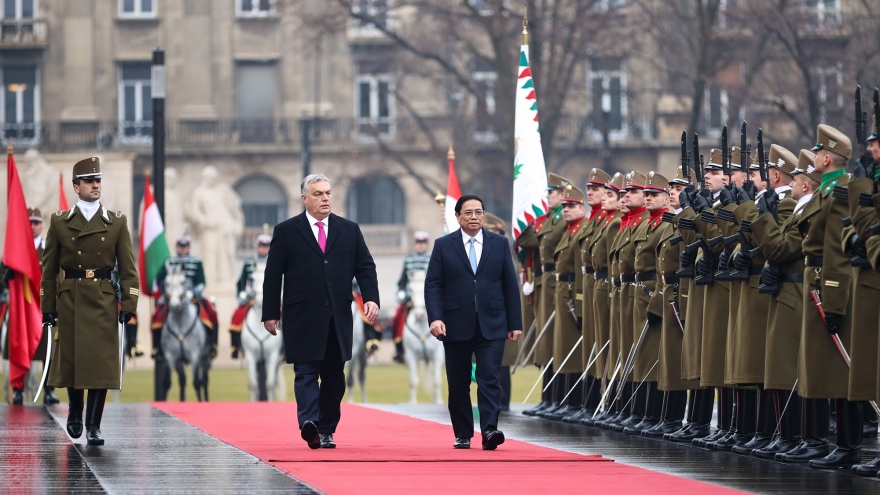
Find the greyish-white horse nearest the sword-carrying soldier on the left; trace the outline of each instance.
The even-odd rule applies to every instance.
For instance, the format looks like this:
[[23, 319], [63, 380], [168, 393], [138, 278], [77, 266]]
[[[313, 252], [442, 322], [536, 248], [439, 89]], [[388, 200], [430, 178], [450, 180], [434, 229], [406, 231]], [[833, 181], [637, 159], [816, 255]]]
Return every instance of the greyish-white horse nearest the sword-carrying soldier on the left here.
[[[186, 400], [186, 372], [192, 366], [193, 387], [199, 401], [208, 400], [208, 368], [211, 361], [206, 349], [207, 335], [199, 317], [199, 304], [193, 300], [186, 275], [175, 268], [165, 278], [168, 316], [162, 328], [165, 362], [177, 371], [180, 400]], [[167, 390], [166, 390], [167, 393]]]

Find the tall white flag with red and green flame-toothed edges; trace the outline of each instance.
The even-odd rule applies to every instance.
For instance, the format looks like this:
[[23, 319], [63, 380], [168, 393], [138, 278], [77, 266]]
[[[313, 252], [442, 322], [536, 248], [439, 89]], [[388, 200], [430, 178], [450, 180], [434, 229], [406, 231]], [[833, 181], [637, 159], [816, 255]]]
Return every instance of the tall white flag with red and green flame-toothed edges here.
[[529, 69], [529, 45], [523, 35], [519, 52], [519, 76], [516, 82], [513, 158], [513, 237], [519, 238], [535, 218], [547, 213], [547, 168], [541, 148], [538, 126], [538, 100], [532, 71]]

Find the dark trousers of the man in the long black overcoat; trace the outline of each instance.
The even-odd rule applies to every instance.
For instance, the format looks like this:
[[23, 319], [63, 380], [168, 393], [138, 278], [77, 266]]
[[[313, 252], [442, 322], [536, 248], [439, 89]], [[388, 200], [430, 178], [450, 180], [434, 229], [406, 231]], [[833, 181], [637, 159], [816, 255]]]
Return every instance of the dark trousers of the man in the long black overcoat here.
[[336, 433], [341, 416], [339, 404], [345, 395], [345, 361], [332, 319], [324, 359], [293, 363], [293, 372], [299, 427], [306, 421], [314, 421], [319, 433]]

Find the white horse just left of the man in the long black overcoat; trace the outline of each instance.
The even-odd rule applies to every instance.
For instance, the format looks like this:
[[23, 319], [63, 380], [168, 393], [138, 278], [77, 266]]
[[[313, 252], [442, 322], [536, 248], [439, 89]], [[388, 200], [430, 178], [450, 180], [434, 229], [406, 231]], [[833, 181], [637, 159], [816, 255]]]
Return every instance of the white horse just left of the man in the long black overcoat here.
[[263, 279], [266, 263], [258, 262], [254, 267], [254, 304], [248, 309], [241, 329], [241, 347], [248, 367], [248, 390], [251, 401], [284, 400], [287, 384], [281, 373], [281, 359], [284, 352], [284, 338], [281, 331], [276, 335], [267, 332], [260, 321], [263, 314]]

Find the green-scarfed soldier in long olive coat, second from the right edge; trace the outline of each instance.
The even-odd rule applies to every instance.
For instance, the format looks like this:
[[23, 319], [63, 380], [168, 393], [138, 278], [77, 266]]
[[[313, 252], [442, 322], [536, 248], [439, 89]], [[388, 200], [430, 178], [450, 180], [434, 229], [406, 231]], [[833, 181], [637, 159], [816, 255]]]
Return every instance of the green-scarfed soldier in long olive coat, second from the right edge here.
[[[822, 183], [798, 218], [806, 264], [798, 391], [808, 399], [834, 400], [837, 448], [824, 457], [821, 447], [809, 456], [789, 452], [786, 460], [808, 457], [813, 467], [850, 467], [860, 461], [862, 410], [858, 402], [847, 400], [849, 367], [833, 340], [848, 344], [852, 336], [852, 265], [843, 250], [843, 218], [849, 215], [849, 205], [832, 192], [849, 183], [845, 167], [852, 144], [842, 132], [820, 124], [811, 151], [816, 153], [815, 171], [822, 174]], [[818, 406], [812, 416], [827, 425], [828, 403], [819, 401]]]

